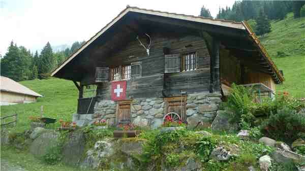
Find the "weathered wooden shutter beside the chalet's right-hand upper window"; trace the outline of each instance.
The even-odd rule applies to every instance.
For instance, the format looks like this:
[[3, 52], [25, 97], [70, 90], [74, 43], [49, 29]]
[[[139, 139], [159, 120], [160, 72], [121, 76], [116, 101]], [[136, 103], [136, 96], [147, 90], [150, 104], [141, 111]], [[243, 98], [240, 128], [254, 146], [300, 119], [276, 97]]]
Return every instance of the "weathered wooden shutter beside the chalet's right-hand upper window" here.
[[170, 54], [165, 55], [165, 73], [178, 73], [180, 72], [180, 55]]

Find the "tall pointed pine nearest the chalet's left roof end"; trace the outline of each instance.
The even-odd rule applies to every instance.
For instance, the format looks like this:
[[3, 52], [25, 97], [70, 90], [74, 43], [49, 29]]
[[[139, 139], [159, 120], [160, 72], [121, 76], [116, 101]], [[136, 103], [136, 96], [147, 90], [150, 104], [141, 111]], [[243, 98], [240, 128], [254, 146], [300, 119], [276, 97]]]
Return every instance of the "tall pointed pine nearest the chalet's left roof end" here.
[[52, 47], [48, 42], [41, 51], [41, 73], [47, 74], [50, 73], [55, 67], [55, 58], [53, 56]]

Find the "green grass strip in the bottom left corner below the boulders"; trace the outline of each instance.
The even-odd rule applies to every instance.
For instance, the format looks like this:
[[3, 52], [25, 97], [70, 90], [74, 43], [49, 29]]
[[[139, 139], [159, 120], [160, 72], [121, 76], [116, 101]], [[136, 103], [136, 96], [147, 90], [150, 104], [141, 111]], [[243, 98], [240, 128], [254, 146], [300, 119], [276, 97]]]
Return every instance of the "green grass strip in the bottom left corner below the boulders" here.
[[[48, 165], [43, 163], [41, 160], [35, 158], [28, 151], [17, 150], [13, 147], [2, 146], [1, 149], [1, 158], [4, 158], [6, 161], [18, 165], [25, 170], [34, 171], [34, 170], [43, 170], [43, 171], [79, 171], [81, 169], [67, 166], [64, 163], [58, 163], [54, 165]], [[89, 171], [86, 169], [86, 171]]]

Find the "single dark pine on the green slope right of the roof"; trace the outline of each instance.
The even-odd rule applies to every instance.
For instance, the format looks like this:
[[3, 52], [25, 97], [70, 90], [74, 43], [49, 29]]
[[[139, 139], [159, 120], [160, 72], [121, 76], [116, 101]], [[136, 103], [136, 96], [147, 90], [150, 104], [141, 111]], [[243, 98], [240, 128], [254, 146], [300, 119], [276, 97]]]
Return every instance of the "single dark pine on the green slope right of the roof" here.
[[264, 13], [264, 10], [261, 9], [256, 21], [256, 34], [257, 35], [264, 35], [271, 31], [271, 25], [267, 16]]

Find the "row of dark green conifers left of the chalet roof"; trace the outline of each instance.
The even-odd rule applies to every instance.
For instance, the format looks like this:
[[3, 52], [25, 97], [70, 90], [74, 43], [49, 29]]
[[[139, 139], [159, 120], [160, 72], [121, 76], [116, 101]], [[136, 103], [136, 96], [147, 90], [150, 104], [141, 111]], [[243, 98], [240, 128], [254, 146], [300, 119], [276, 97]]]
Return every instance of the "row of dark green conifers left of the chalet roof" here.
[[71, 48], [53, 52], [48, 42], [40, 54], [33, 54], [24, 46], [17, 46], [11, 42], [7, 53], [1, 58], [1, 75], [15, 81], [33, 80], [46, 78], [50, 73], [64, 62], [72, 53], [80, 48], [85, 41], [74, 42]]

